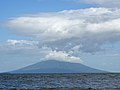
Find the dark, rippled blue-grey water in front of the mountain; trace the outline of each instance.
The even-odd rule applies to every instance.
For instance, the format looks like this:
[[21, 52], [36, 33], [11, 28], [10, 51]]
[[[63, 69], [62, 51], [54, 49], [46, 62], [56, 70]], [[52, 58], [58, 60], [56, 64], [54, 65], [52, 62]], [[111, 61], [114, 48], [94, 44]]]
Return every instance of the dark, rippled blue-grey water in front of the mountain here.
[[0, 90], [120, 90], [120, 74], [0, 74]]

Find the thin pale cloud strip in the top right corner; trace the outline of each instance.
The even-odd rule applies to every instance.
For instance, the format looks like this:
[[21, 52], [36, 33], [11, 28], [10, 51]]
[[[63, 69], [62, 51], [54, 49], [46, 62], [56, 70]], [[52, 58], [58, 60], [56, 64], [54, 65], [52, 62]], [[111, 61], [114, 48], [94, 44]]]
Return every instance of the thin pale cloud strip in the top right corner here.
[[78, 3], [96, 4], [103, 7], [120, 7], [120, 0], [74, 0]]

